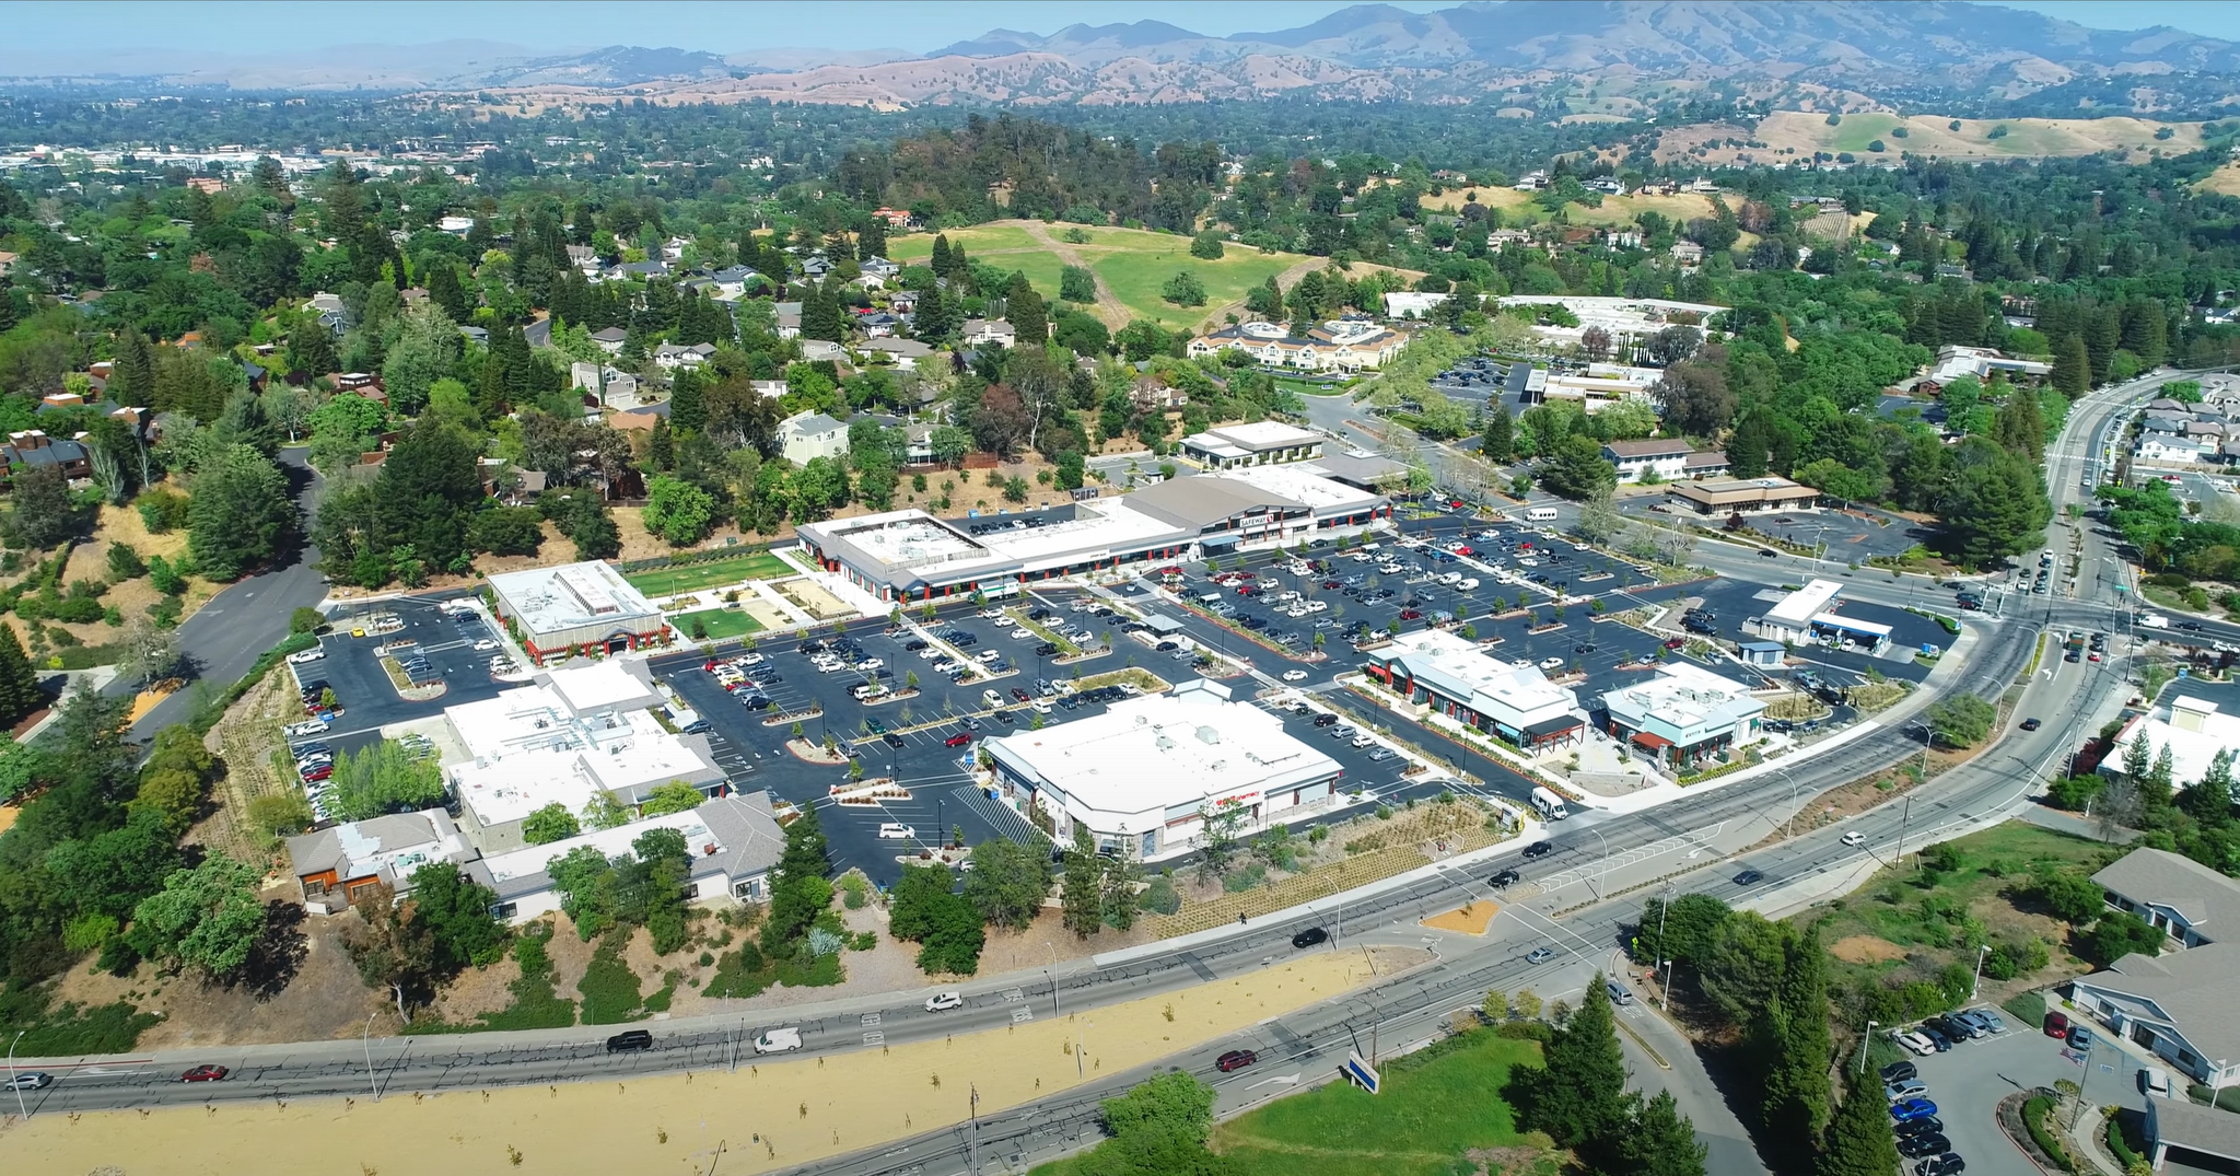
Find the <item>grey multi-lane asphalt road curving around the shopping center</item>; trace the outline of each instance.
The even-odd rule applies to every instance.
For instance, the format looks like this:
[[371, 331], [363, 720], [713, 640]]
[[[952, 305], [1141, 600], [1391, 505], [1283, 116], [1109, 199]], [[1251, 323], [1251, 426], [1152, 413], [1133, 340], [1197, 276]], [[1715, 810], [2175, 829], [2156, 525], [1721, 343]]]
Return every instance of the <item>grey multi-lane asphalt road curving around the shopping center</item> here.
[[[2117, 410], [2146, 399], [2155, 381], [2137, 381], [2121, 390], [2079, 401], [2061, 444], [2047, 455], [2056, 515], [2070, 502], [2083, 500], [2085, 470], [2106, 446], [2106, 432]], [[2110, 542], [2083, 520], [2056, 522], [2056, 549], [2074, 549], [2085, 567], [2112, 556]], [[1720, 544], [1705, 544], [1718, 549]], [[1761, 560], [1700, 551], [1700, 560], [1736, 576], [1763, 578], [1767, 564], [1794, 573], [1839, 573], [1812, 560]], [[1727, 567], [1732, 564], [1732, 567]], [[1792, 567], [1794, 564], [1794, 567]], [[2061, 627], [2106, 629], [2117, 618], [2117, 600], [2099, 591], [2108, 580], [2079, 578], [2076, 596], [2009, 596], [2003, 616], [1971, 614], [1971, 645], [1964, 656], [1938, 672], [1938, 692], [1971, 690], [1998, 699], [2023, 674], [2038, 647], [2038, 634]], [[1879, 576], [1852, 576], [1846, 594], [1873, 603], [1924, 603], [1917, 580], [1893, 582]], [[282, 620], [284, 623], [284, 620]], [[2240, 632], [2236, 632], [2240, 636]], [[1732, 903], [1774, 903], [1779, 894], [1823, 885], [1830, 874], [1891, 860], [1900, 849], [1917, 849], [1940, 836], [1998, 820], [2016, 811], [2043, 786], [2059, 757], [2074, 750], [2079, 732], [2094, 730], [2128, 697], [2126, 659], [2110, 663], [2063, 663], [2047, 656], [2020, 692], [2016, 717], [2038, 717], [2038, 730], [2009, 728], [2005, 737], [1973, 762], [1942, 773], [1911, 791], [1906, 804], [1884, 804], [1837, 827], [1776, 840], [1763, 849], [1776, 824], [1794, 809], [1837, 784], [1893, 764], [1922, 750], [1922, 730], [1904, 715], [1902, 703], [1888, 719], [1868, 724], [1848, 737], [1841, 755], [1803, 757], [1788, 773], [1756, 775], [1720, 788], [1696, 791], [1673, 804], [1633, 815], [1581, 813], [1557, 824], [1550, 840], [1555, 853], [1528, 865], [1528, 887], [1510, 896], [1508, 914], [1483, 941], [1447, 936], [1434, 963], [1371, 986], [1344, 999], [1310, 1006], [1277, 1017], [1254, 1030], [1252, 1046], [1261, 1051], [1259, 1073], [1221, 1075], [1212, 1060], [1234, 1042], [1207, 1044], [1201, 1051], [1169, 1057], [1163, 1066], [1189, 1068], [1221, 1091], [1221, 1107], [1261, 1098], [1259, 1084], [1270, 1073], [1301, 1073], [1308, 1080], [1335, 1071], [1346, 1051], [1357, 1048], [1366, 1033], [1384, 1042], [1407, 1042], [1434, 1033], [1454, 1008], [1476, 1006], [1487, 988], [1516, 990], [1539, 986], [1559, 992], [1577, 986], [1593, 968], [1608, 968], [1624, 941], [1626, 923], [1637, 916], [1642, 887], [1673, 885], [1680, 892], [1705, 892]], [[1846, 847], [1841, 836], [1857, 831], [1864, 844]], [[29, 1098], [34, 1113], [60, 1113], [110, 1107], [155, 1107], [211, 1100], [267, 1100], [311, 1095], [358, 1095], [444, 1091], [491, 1084], [529, 1084], [580, 1077], [614, 1077], [627, 1073], [672, 1073], [739, 1064], [744, 1037], [766, 1026], [800, 1026], [804, 1053], [838, 1053], [865, 1048], [862, 1017], [878, 1012], [887, 1042], [909, 1042], [950, 1035], [968, 1028], [995, 1028], [1010, 1021], [1017, 1001], [1053, 1004], [1060, 1010], [1131, 1001], [1160, 990], [1205, 983], [1263, 968], [1270, 959], [1292, 954], [1290, 936], [1306, 925], [1342, 927], [1342, 941], [1324, 950], [1355, 943], [1422, 943], [1418, 921], [1458, 900], [1487, 896], [1485, 876], [1501, 865], [1516, 865], [1512, 849], [1481, 856], [1467, 867], [1434, 867], [1382, 887], [1371, 887], [1342, 903], [1326, 903], [1286, 921], [1263, 921], [1252, 927], [1212, 932], [1172, 941], [1127, 959], [1102, 963], [1073, 961], [1053, 970], [990, 977], [965, 988], [965, 1008], [925, 1012], [925, 992], [892, 992], [793, 1008], [786, 1012], [721, 1015], [676, 1019], [656, 1028], [656, 1048], [647, 1053], [609, 1055], [600, 1028], [551, 1033], [491, 1033], [470, 1037], [396, 1037], [370, 1042], [307, 1042], [287, 1046], [233, 1046], [202, 1051], [146, 1053], [134, 1057], [18, 1060], [20, 1068], [56, 1073], [60, 1082]], [[1754, 885], [1734, 878], [1752, 869], [1763, 874]], [[1232, 934], [1234, 932], [1234, 934]], [[1530, 963], [1525, 954], [1548, 945], [1555, 961]], [[224, 1064], [231, 1080], [215, 1084], [181, 1084], [179, 1071], [190, 1064]], [[977, 1127], [983, 1158], [1046, 1158], [1095, 1133], [1095, 1102], [1140, 1080], [1142, 1073], [1118, 1073], [1048, 1100], [983, 1118]], [[1716, 1113], [1716, 1111], [1711, 1111]], [[1734, 1131], [1707, 1136], [1734, 1138]], [[1747, 1147], [1743, 1149], [1747, 1151]], [[948, 1174], [965, 1169], [965, 1131], [930, 1131], [905, 1145], [883, 1147], [842, 1160], [815, 1165], [815, 1172], [878, 1174], [918, 1172]], [[1754, 1156], [1729, 1156], [1723, 1169], [1754, 1169]]]

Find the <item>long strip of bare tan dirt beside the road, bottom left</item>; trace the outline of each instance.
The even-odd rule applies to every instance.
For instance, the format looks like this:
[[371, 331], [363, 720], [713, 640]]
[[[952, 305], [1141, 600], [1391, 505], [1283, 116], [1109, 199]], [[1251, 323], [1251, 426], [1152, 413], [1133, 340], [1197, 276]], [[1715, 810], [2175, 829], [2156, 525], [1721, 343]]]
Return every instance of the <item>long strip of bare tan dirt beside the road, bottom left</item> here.
[[[1380, 974], [1429, 959], [1382, 952]], [[876, 1147], [965, 1111], [1024, 1104], [1084, 1077], [1149, 1064], [1371, 977], [1362, 952], [1315, 952], [1250, 977], [1001, 1030], [629, 1082], [580, 1082], [430, 1098], [293, 1100], [38, 1116], [7, 1129], [25, 1172], [90, 1172], [166, 1156], [184, 1176], [320, 1172], [771, 1172]], [[1075, 1042], [1082, 1042], [1075, 1057]], [[708, 1122], [710, 1107], [726, 1109]], [[925, 1122], [916, 1122], [925, 1116]]]

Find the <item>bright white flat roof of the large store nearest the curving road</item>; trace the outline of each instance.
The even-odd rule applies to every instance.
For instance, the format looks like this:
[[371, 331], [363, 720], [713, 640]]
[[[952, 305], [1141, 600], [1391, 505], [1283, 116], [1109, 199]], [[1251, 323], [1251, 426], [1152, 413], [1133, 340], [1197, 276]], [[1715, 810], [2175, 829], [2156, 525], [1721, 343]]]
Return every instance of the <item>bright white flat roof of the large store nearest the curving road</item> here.
[[990, 746], [1104, 813], [1196, 806], [1340, 773], [1275, 715], [1207, 685], [1118, 701], [1104, 715], [1004, 735]]

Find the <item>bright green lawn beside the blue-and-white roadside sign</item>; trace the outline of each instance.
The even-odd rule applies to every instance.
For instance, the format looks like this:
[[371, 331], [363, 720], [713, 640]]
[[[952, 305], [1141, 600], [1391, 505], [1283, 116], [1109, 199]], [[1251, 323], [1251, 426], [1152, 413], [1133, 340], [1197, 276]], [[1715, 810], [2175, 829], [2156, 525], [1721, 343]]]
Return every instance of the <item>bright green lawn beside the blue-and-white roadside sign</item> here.
[[1380, 1066], [1382, 1093], [1333, 1082], [1219, 1124], [1214, 1149], [1245, 1176], [1445, 1176], [1465, 1149], [1534, 1142], [1501, 1100], [1519, 1064], [1539, 1064], [1537, 1042], [1476, 1030], [1427, 1062]]

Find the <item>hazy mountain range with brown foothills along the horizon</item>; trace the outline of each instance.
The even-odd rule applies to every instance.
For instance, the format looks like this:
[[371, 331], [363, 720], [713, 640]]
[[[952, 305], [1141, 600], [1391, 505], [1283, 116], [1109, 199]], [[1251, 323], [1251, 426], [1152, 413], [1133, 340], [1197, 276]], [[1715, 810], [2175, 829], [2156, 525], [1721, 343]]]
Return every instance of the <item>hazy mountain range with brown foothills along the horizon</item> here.
[[[1048, 36], [992, 29], [930, 54], [623, 45], [529, 54], [491, 43], [423, 49], [327, 49], [284, 63], [202, 58], [168, 69], [141, 52], [108, 58], [101, 78], [237, 90], [650, 87], [681, 101], [1026, 105], [1277, 94], [1452, 103], [1566, 81], [1633, 94], [1729, 81], [1767, 101], [1799, 90], [1884, 103], [2043, 96], [2070, 108], [2155, 112], [2213, 103], [2233, 90], [2222, 76], [2240, 76], [2240, 45], [2229, 40], [2171, 27], [2088, 29], [1960, 0], [1492, 0], [1438, 11], [1355, 4], [1295, 29], [1205, 36], [1158, 20], [1068, 25]], [[20, 69], [11, 81], [38, 78], [25, 65], [20, 54], [0, 52], [0, 72]], [[1642, 110], [1646, 103], [1604, 112]]]

